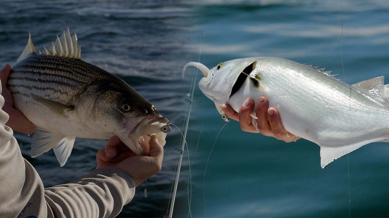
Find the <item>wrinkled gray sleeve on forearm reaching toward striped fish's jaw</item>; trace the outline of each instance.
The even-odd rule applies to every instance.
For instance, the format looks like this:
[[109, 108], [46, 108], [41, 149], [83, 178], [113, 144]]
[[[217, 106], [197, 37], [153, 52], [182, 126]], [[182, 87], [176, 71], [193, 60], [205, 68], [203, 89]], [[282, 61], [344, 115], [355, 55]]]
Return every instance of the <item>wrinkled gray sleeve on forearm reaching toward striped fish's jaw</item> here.
[[98, 169], [79, 180], [45, 189], [54, 217], [115, 217], [134, 194], [131, 177], [115, 168]]

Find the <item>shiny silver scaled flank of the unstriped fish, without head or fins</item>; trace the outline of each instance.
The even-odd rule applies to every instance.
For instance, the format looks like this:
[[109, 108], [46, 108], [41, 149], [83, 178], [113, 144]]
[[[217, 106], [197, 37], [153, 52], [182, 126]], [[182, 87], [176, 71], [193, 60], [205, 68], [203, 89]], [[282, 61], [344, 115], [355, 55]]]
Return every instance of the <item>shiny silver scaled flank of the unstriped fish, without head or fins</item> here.
[[326, 81], [320, 82], [304, 73], [263, 71], [261, 81], [265, 87], [255, 88], [247, 79], [230, 97], [227, 103], [235, 111], [239, 111], [245, 99], [256, 102], [263, 95], [268, 98], [269, 107], [279, 111], [287, 131], [325, 147], [370, 143], [389, 137], [387, 107], [363, 102], [354, 90], [342, 93], [329, 87]]

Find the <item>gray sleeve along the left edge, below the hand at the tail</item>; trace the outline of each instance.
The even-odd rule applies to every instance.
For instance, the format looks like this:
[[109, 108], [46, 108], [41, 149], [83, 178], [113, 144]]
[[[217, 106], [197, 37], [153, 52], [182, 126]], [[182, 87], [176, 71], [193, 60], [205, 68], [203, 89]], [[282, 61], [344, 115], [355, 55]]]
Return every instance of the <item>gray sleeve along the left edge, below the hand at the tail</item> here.
[[[0, 95], [0, 108], [3, 105]], [[7, 121], [8, 114], [0, 109], [0, 217], [47, 216], [42, 181], [21, 155], [12, 129], [5, 126]]]

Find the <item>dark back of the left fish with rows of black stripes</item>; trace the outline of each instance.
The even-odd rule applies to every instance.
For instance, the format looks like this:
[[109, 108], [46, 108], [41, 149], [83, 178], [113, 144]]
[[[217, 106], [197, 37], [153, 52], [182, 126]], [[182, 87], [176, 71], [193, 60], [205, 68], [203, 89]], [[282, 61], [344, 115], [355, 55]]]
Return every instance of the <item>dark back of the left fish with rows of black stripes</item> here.
[[93, 81], [117, 79], [79, 59], [32, 54], [12, 66], [7, 86], [14, 96], [42, 97], [67, 104]]

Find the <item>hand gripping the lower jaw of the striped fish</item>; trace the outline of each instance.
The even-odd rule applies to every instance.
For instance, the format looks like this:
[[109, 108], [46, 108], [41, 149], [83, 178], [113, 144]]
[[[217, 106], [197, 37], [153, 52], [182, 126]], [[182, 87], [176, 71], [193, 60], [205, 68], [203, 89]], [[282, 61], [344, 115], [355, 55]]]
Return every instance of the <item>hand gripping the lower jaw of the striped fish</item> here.
[[123, 170], [131, 176], [135, 186], [158, 173], [162, 167], [163, 147], [159, 144], [155, 135], [144, 137], [146, 140], [142, 140], [141, 143], [150, 144], [150, 156], [136, 155], [117, 136], [113, 136], [108, 140], [105, 148], [97, 152], [96, 169], [113, 167]]

